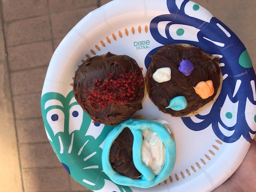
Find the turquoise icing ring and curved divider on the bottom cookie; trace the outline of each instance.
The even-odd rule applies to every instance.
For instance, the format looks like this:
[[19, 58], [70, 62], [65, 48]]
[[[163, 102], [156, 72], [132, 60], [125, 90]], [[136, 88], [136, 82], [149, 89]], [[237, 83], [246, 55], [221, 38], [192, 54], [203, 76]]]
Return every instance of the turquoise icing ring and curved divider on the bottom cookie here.
[[[109, 156], [112, 143], [126, 127], [131, 130], [134, 136], [132, 158], [134, 166], [142, 174], [141, 179], [131, 179], [123, 176], [117, 173], [110, 164]], [[142, 130], [146, 129], [156, 132], [166, 148], [165, 164], [162, 171], [157, 176], [142, 162]], [[124, 186], [135, 186], [140, 188], [149, 188], [166, 180], [174, 168], [175, 160], [176, 144], [174, 139], [162, 124], [152, 120], [129, 119], [128, 121], [123, 121], [118, 124], [106, 138], [102, 152], [102, 168], [105, 174], [107, 174], [113, 182]]]

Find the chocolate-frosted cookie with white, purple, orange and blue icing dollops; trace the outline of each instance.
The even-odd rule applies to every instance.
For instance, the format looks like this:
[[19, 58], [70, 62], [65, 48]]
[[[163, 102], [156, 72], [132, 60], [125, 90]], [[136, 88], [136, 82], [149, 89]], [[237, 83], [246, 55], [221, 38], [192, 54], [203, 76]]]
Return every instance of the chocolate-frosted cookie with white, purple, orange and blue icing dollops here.
[[218, 57], [188, 44], [165, 45], [150, 57], [146, 87], [162, 112], [193, 116], [218, 97], [222, 87]]

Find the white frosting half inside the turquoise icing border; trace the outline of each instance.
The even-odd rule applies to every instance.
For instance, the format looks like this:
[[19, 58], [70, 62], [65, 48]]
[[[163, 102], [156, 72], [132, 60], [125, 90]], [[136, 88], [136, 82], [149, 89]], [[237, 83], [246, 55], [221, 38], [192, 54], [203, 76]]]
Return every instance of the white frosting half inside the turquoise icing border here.
[[156, 132], [142, 130], [142, 162], [158, 175], [165, 163], [166, 149]]

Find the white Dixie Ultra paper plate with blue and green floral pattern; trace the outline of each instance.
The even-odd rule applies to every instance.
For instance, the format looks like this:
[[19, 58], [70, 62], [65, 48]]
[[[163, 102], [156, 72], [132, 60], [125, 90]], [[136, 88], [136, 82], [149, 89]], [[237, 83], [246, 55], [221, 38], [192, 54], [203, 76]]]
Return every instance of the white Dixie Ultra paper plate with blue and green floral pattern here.
[[[170, 123], [177, 158], [172, 174], [148, 189], [119, 186], [102, 171], [110, 126], [94, 123], [74, 99], [74, 72], [82, 60], [126, 54], [146, 74], [164, 44], [187, 43], [220, 56], [223, 86], [216, 102], [191, 118], [163, 114], [146, 96], [134, 115]], [[42, 90], [46, 134], [70, 175], [104, 192], [212, 191], [238, 168], [256, 133], [255, 73], [238, 37], [202, 6], [187, 0], [114, 0], [85, 16], [54, 52]]]

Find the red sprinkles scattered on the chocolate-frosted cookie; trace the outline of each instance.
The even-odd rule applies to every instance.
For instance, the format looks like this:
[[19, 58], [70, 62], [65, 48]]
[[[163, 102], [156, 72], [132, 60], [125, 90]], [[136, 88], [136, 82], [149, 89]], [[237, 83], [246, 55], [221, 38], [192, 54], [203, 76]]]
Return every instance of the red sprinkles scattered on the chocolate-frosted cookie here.
[[[115, 63], [117, 65], [118, 63]], [[125, 71], [125, 70], [124, 70]], [[105, 75], [106, 79], [96, 79], [92, 86], [84, 89], [84, 94], [87, 102], [92, 105], [92, 108], [97, 111], [98, 106], [106, 108], [107, 104], [114, 103], [118, 106], [120, 103], [126, 104], [134, 100], [136, 97], [136, 86], [144, 88], [143, 76], [138, 75], [139, 72], [126, 72], [119, 75]], [[140, 95], [140, 94], [138, 94]], [[82, 100], [82, 104], [84, 101]], [[107, 120], [107, 119], [106, 119]]]

